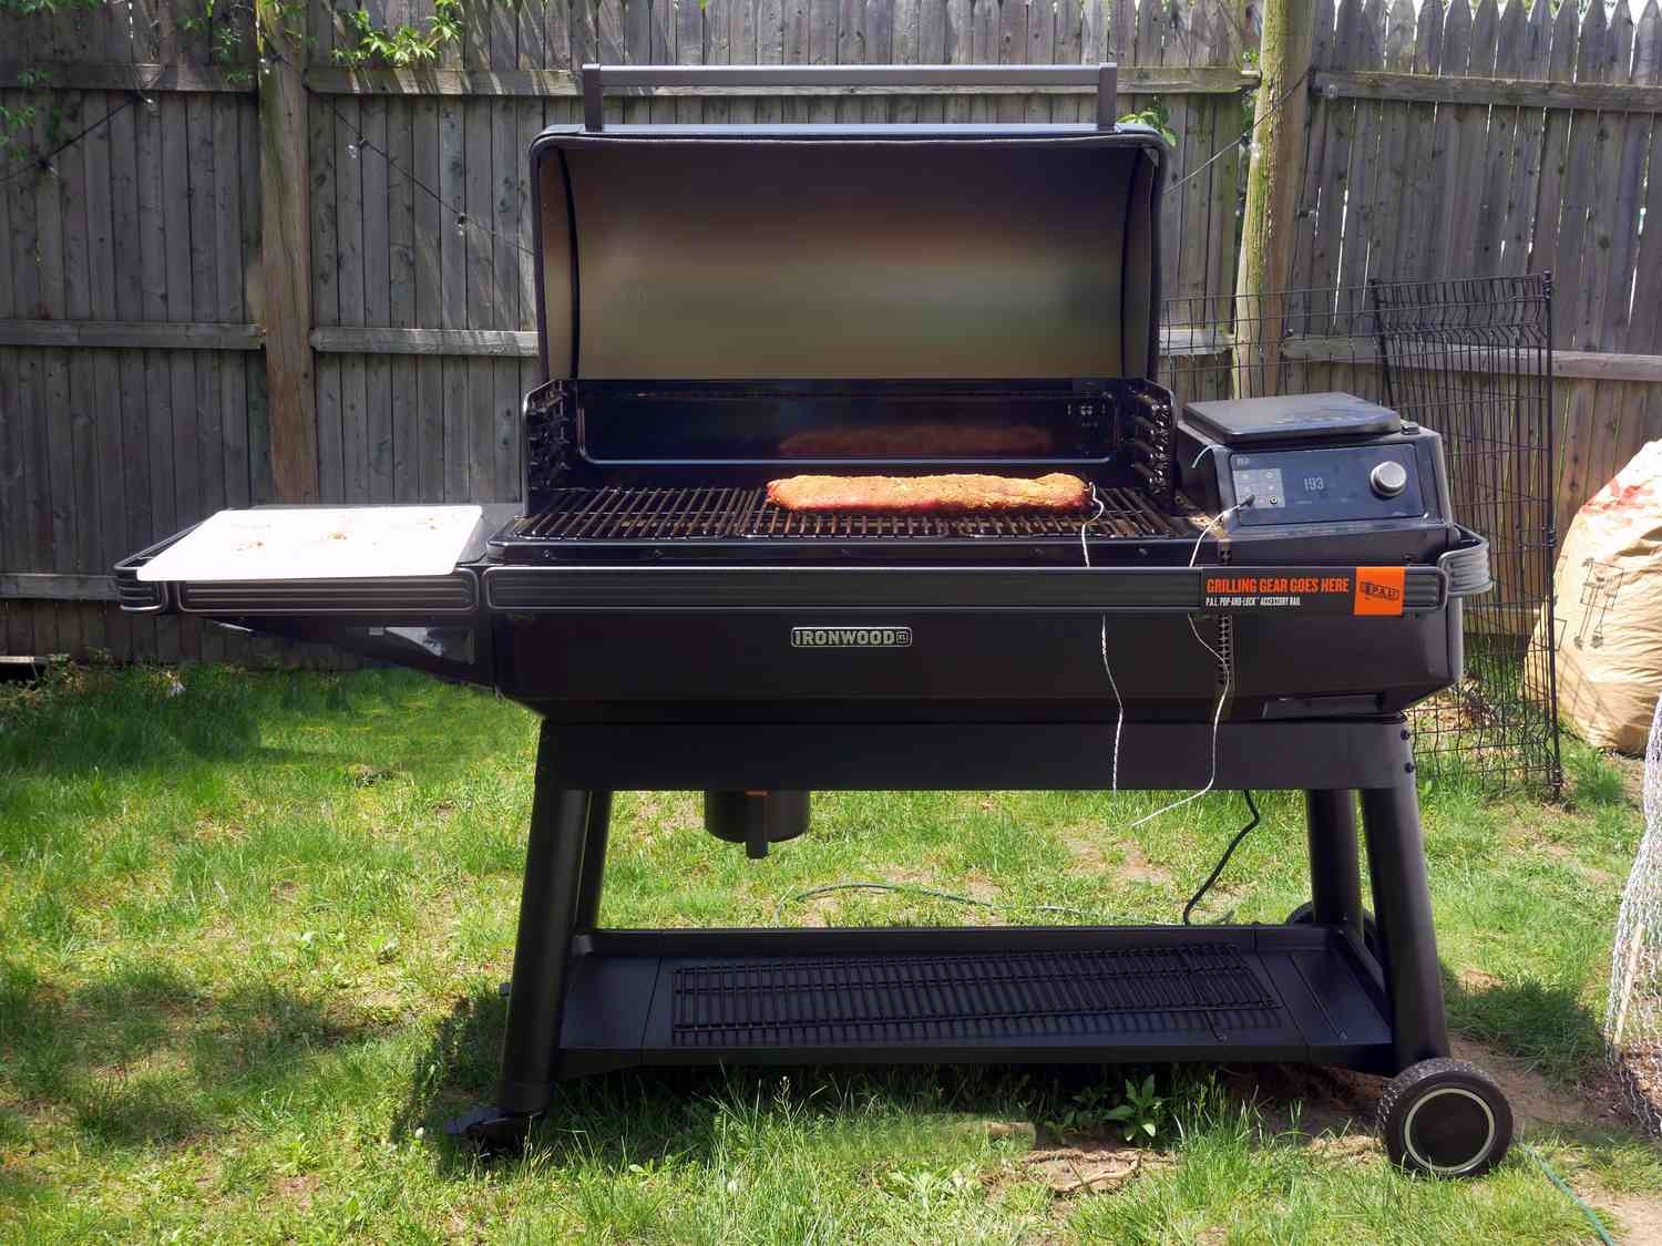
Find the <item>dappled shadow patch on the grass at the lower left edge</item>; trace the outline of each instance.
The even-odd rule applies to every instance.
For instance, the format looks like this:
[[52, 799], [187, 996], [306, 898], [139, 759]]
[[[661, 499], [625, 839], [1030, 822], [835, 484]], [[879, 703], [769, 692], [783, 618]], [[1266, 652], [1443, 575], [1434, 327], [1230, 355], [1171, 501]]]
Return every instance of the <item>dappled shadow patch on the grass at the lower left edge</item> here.
[[111, 1146], [211, 1133], [228, 1103], [264, 1105], [377, 1030], [271, 984], [203, 992], [153, 962], [73, 990], [0, 962], [0, 1053], [20, 1101], [7, 1133], [40, 1113]]

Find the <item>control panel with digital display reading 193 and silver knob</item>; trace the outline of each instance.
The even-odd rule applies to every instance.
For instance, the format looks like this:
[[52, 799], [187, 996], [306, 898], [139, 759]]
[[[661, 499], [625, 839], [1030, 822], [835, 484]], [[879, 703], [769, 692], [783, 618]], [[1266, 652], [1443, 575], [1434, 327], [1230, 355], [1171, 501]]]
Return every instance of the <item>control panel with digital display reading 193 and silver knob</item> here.
[[1232, 454], [1237, 522], [1343, 523], [1411, 518], [1426, 512], [1419, 465], [1409, 445]]

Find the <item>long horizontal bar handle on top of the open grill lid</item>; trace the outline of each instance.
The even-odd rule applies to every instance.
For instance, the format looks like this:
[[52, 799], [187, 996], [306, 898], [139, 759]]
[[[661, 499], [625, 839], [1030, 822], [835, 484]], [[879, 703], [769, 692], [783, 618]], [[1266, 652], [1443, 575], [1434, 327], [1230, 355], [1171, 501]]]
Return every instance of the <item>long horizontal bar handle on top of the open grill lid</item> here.
[[585, 65], [583, 130], [605, 130], [607, 86], [1095, 86], [1114, 130], [1117, 65]]

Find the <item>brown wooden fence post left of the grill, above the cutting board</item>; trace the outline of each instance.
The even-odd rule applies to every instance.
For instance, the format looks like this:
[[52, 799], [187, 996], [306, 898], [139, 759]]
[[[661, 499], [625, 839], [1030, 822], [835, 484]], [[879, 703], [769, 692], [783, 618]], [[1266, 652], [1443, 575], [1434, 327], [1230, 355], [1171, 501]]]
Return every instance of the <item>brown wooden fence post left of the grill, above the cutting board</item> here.
[[[263, 15], [266, 5], [259, 5]], [[283, 8], [289, 8], [284, 5]], [[259, 264], [264, 277], [271, 477], [279, 502], [317, 500], [317, 394], [312, 385], [311, 168], [306, 145], [304, 10], [273, 5], [261, 22]]]

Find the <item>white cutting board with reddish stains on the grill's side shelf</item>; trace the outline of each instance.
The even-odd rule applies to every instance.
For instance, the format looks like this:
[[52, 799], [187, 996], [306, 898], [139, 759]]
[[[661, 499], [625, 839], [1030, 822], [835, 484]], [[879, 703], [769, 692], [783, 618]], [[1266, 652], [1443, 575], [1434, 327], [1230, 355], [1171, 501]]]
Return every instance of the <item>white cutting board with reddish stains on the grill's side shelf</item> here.
[[138, 568], [140, 580], [359, 580], [449, 575], [480, 507], [221, 510]]

